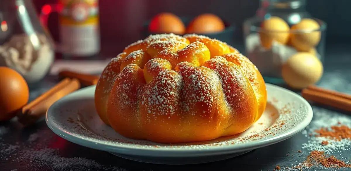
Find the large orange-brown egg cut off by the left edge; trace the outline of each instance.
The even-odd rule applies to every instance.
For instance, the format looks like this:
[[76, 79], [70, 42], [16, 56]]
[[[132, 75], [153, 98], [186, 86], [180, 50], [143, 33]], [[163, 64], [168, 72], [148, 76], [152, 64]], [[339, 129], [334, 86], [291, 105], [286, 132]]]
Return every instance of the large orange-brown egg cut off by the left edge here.
[[27, 104], [29, 89], [27, 82], [15, 70], [0, 67], [0, 121], [6, 121]]

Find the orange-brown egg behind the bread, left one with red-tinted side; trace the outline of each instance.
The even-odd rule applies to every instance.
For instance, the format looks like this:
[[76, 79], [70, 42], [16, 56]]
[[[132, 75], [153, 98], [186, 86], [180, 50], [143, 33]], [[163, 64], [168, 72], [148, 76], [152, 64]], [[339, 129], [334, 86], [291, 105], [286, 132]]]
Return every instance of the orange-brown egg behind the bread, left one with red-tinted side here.
[[184, 34], [185, 26], [177, 15], [160, 13], [152, 18], [149, 31], [152, 33]]

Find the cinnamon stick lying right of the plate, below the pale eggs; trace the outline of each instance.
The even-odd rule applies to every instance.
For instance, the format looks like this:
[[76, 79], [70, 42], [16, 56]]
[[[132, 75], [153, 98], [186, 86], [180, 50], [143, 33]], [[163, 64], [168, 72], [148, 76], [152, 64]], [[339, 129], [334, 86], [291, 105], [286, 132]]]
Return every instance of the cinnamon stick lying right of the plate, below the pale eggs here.
[[351, 95], [317, 86], [309, 86], [302, 90], [302, 97], [306, 100], [328, 105], [345, 111], [351, 111]]

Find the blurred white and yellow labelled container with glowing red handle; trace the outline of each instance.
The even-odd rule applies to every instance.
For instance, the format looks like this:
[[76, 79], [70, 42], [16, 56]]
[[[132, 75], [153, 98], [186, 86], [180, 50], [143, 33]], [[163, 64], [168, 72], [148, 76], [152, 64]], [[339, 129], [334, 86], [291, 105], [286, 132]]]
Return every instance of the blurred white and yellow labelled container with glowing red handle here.
[[59, 0], [42, 7], [41, 20], [47, 23], [51, 12], [59, 13], [60, 39], [56, 50], [64, 56], [87, 57], [100, 52], [98, 0]]

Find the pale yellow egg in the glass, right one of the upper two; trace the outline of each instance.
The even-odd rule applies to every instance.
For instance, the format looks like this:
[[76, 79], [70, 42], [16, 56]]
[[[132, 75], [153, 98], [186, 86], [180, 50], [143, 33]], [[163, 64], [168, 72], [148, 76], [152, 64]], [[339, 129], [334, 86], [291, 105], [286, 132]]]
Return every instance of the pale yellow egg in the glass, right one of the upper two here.
[[320, 41], [320, 26], [313, 19], [303, 19], [291, 27], [291, 44], [299, 51], [309, 52]]

